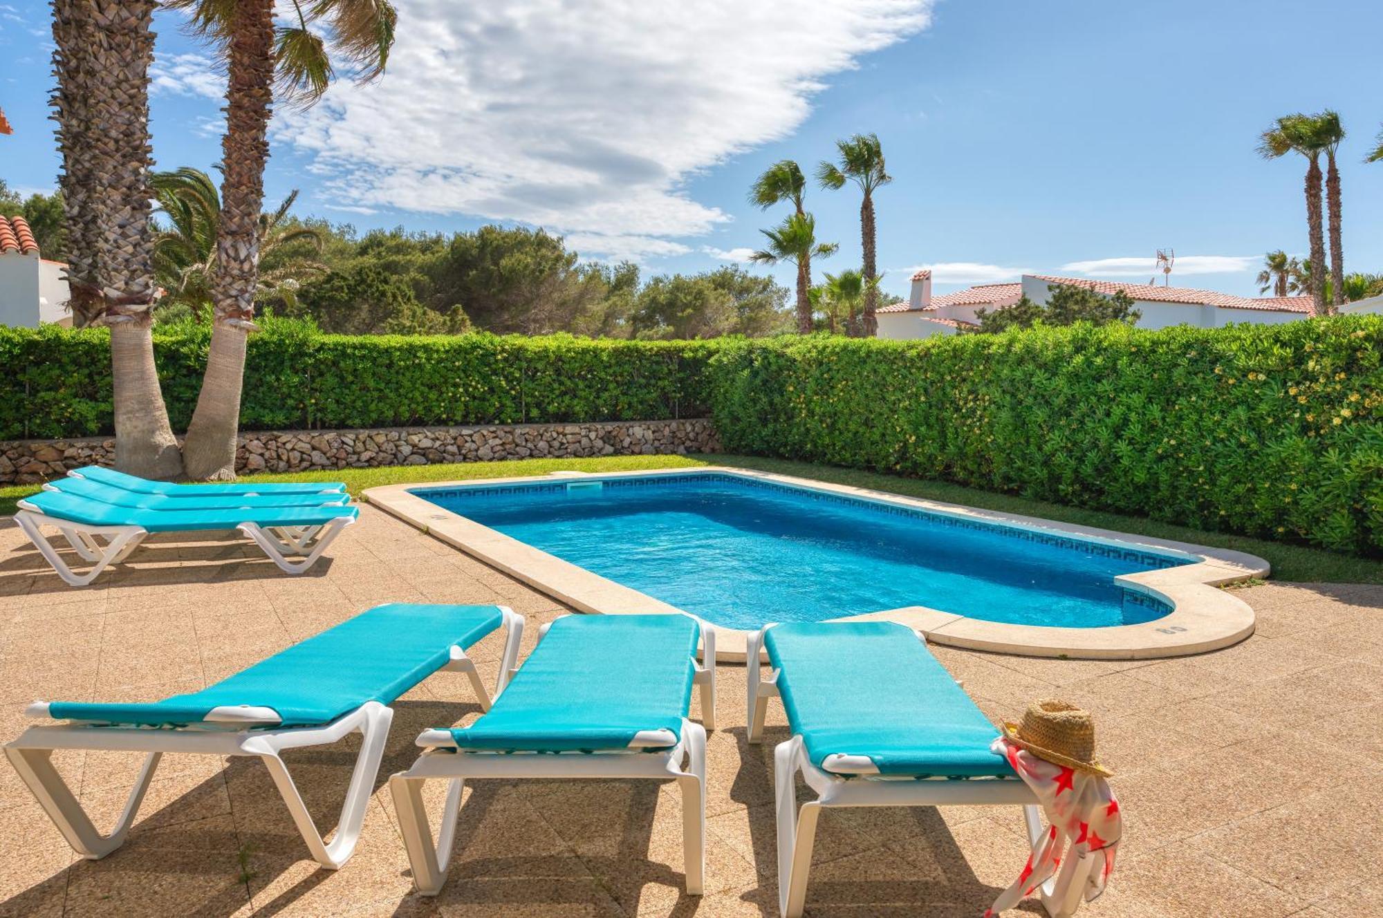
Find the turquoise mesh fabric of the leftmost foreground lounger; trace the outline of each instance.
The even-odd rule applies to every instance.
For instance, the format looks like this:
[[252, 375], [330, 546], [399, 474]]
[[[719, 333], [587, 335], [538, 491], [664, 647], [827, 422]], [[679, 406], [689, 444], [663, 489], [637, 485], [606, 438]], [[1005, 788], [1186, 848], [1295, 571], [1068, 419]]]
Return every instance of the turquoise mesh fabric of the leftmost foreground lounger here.
[[393, 603], [349, 618], [202, 691], [152, 704], [53, 702], [62, 720], [183, 726], [221, 705], [263, 705], [284, 727], [331, 723], [366, 701], [393, 704], [437, 672], [451, 647], [469, 647], [499, 628], [495, 606]]

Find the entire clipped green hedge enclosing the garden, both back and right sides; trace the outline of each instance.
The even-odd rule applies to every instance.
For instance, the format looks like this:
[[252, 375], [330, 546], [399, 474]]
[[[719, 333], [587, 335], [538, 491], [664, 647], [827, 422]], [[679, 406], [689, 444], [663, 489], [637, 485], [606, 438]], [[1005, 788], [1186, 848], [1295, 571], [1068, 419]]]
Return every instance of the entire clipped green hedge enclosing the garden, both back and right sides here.
[[[176, 430], [205, 330], [155, 336]], [[730, 452], [1383, 553], [1383, 319], [925, 341], [250, 337], [246, 430], [711, 413]], [[102, 330], [0, 329], [0, 440], [111, 431]]]

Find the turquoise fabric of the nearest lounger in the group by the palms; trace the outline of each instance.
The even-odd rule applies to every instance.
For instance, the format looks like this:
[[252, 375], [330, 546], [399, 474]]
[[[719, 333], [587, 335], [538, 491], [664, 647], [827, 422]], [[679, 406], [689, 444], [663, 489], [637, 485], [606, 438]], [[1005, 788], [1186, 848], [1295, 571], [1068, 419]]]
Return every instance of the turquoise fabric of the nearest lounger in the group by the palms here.
[[342, 517], [354, 518], [360, 513], [360, 510], [351, 506], [144, 510], [138, 507], [115, 507], [109, 503], [77, 498], [59, 491], [40, 491], [24, 498], [21, 506], [33, 507], [39, 513], [61, 520], [72, 520], [73, 523], [84, 523], [87, 525], [137, 525], [149, 532], [234, 530], [241, 523], [257, 523], [263, 527], [325, 525]]

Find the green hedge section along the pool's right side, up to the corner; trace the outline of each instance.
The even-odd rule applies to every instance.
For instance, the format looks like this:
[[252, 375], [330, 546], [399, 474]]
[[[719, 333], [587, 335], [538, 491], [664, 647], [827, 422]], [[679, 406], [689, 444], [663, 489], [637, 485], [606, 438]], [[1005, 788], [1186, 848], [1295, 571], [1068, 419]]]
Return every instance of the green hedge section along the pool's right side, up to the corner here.
[[743, 341], [729, 452], [1383, 552], [1383, 319]]

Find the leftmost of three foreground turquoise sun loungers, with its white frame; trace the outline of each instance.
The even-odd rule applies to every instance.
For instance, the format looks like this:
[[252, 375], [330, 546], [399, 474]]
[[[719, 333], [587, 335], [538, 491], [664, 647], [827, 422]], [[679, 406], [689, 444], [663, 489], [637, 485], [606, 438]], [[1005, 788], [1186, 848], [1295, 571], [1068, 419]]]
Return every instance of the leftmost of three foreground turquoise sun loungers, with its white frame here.
[[[434, 672], [463, 672], [490, 709], [466, 648], [498, 628], [506, 639], [496, 693], [502, 693], [519, 654], [523, 618], [499, 606], [379, 606], [289, 647], [202, 691], [148, 704], [41, 702], [30, 718], [68, 720], [29, 727], [6, 755], [72, 847], [87, 859], [119, 847], [165, 752], [257, 756], [313, 857], [328, 868], [346, 863], [389, 738], [394, 701]], [[282, 749], [337, 742], [362, 736], [346, 803], [331, 843], [322, 841]], [[72, 789], [53, 767], [55, 749], [147, 752], [144, 767], [109, 835], [101, 835]]]

